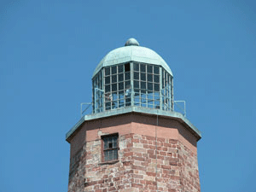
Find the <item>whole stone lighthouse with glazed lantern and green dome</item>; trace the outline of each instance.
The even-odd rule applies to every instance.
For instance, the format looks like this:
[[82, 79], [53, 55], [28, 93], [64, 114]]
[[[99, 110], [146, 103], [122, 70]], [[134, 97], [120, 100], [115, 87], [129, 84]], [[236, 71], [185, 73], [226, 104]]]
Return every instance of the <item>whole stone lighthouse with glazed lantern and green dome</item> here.
[[68, 192], [198, 192], [201, 132], [174, 110], [173, 75], [130, 38], [98, 64], [92, 112], [67, 132]]

